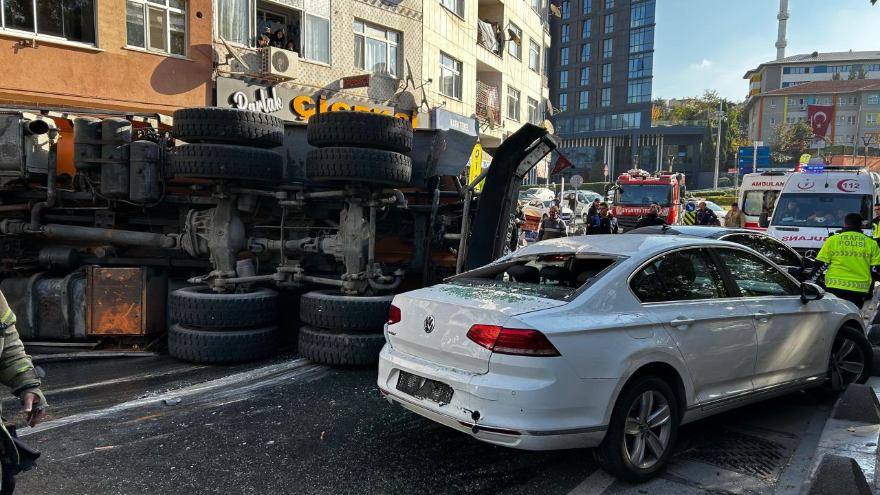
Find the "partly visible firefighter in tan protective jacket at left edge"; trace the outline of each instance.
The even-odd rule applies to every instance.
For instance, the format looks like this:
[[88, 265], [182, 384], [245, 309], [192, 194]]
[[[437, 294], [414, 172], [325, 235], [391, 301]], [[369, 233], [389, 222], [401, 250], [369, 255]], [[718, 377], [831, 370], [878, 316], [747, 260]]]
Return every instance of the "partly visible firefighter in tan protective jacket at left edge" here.
[[[15, 329], [15, 314], [0, 293], [0, 382], [21, 399], [27, 424], [37, 425], [46, 413], [46, 396], [40, 391], [40, 377], [31, 357], [25, 354], [25, 345]], [[14, 427], [0, 421], [0, 495], [15, 489], [15, 475], [30, 469], [40, 453], [20, 442]]]

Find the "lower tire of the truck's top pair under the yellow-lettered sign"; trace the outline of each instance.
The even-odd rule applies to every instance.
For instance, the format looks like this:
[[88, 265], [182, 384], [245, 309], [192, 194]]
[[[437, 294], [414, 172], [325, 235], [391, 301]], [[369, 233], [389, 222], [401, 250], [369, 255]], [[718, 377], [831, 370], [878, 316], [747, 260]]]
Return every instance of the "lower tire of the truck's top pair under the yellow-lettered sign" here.
[[319, 148], [305, 157], [305, 174], [312, 181], [364, 181], [407, 185], [413, 161], [394, 151], [369, 148]]

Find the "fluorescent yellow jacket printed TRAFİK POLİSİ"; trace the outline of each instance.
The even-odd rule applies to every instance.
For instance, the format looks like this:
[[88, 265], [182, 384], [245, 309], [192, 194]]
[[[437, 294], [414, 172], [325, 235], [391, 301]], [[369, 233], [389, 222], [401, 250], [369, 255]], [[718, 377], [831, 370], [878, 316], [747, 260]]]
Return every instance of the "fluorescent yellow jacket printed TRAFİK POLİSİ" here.
[[861, 232], [843, 232], [825, 240], [816, 259], [828, 263], [825, 287], [868, 292], [871, 266], [880, 265], [880, 247]]

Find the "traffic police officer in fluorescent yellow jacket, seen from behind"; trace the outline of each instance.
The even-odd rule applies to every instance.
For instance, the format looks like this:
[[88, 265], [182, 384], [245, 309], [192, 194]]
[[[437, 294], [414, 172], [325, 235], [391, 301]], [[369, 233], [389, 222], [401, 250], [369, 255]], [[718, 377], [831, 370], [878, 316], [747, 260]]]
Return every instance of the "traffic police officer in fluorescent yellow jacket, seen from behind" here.
[[825, 275], [825, 290], [851, 301], [859, 310], [873, 284], [871, 267], [880, 265], [880, 247], [862, 233], [862, 215], [849, 213], [843, 229], [825, 240], [811, 278]]

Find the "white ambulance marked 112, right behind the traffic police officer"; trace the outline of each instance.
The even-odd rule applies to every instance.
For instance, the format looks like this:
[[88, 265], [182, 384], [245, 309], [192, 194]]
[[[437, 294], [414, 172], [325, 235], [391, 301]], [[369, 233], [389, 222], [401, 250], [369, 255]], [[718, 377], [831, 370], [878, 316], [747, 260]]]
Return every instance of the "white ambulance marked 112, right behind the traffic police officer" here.
[[776, 202], [767, 233], [814, 257], [833, 233], [843, 228], [847, 213], [860, 213], [862, 229], [871, 235], [880, 175], [863, 167], [803, 167], [791, 174]]

